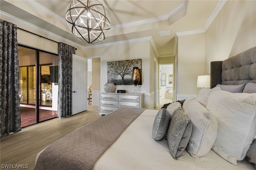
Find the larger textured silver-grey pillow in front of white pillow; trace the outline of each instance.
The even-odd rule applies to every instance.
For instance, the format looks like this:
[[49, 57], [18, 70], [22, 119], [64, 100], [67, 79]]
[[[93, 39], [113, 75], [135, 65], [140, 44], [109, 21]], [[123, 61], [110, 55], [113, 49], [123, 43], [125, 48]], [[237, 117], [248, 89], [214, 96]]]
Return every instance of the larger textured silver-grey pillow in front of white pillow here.
[[176, 109], [167, 132], [167, 141], [174, 159], [182, 155], [192, 133], [192, 123], [181, 108]]

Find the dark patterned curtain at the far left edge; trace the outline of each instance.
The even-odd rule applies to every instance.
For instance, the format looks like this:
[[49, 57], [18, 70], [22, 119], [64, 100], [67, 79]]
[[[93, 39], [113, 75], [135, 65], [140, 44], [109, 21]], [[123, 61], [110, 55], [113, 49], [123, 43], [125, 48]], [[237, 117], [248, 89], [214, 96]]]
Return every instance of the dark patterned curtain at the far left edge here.
[[20, 126], [17, 26], [0, 20], [0, 137]]

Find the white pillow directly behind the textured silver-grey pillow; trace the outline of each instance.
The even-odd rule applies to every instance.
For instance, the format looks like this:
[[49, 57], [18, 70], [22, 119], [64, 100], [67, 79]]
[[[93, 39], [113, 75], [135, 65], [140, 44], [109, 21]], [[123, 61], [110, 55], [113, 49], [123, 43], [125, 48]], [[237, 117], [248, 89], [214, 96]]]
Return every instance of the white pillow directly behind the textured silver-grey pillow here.
[[217, 137], [217, 120], [196, 99], [191, 100], [185, 114], [192, 122], [192, 134], [188, 142], [187, 151], [192, 157], [207, 154]]

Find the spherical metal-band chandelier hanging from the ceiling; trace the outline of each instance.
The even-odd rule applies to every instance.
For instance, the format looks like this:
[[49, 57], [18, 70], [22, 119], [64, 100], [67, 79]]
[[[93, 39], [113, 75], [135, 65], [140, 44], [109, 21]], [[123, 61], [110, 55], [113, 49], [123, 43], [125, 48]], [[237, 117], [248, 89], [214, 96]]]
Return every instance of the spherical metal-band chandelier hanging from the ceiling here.
[[87, 43], [103, 41], [111, 24], [104, 6], [97, 0], [73, 0], [66, 10], [66, 22], [71, 32]]

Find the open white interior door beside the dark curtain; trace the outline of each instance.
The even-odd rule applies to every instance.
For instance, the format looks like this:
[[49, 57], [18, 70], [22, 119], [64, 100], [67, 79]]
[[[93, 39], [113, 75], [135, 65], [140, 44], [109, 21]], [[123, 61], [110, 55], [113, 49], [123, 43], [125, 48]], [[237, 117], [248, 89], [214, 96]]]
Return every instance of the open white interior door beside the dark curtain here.
[[87, 59], [73, 54], [72, 115], [87, 110]]

